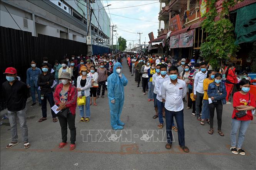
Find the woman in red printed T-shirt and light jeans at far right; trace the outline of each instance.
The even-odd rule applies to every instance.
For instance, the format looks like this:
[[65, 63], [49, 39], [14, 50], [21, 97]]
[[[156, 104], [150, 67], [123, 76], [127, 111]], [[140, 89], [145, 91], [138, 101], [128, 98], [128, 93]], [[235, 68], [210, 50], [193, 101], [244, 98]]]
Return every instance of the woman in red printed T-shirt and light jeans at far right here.
[[[252, 113], [255, 112], [255, 97], [250, 90], [250, 82], [249, 80], [243, 79], [239, 83], [241, 91], [234, 93], [233, 96], [233, 114], [232, 114], [232, 128], [230, 133], [231, 138], [231, 152], [234, 154], [240, 153], [241, 155], [245, 155], [243, 149], [241, 149], [244, 142], [244, 135], [246, 130], [253, 120]], [[240, 111], [245, 111], [245, 115], [243, 117], [237, 117], [236, 113]], [[240, 127], [240, 128], [239, 128]], [[236, 142], [236, 133], [238, 132], [238, 141]]]

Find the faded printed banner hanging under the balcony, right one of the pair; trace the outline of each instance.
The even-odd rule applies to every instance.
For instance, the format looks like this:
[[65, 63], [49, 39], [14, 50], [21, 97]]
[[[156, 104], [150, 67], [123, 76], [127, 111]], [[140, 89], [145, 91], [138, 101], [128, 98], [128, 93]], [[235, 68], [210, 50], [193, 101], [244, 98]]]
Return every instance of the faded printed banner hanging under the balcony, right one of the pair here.
[[179, 35], [179, 48], [193, 47], [194, 29]]

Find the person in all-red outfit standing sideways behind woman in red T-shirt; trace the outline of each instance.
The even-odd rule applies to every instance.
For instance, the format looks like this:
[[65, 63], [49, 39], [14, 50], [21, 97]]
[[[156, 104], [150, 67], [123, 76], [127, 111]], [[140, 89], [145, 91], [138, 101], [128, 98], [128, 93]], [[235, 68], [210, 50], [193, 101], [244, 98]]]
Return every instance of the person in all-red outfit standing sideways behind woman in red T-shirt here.
[[235, 74], [235, 63], [231, 63], [226, 71], [226, 81], [225, 81], [225, 86], [227, 90], [227, 96], [226, 96], [226, 101], [227, 104], [231, 104], [229, 102], [229, 97], [232, 94], [232, 90], [234, 88], [234, 85], [237, 83], [237, 78]]

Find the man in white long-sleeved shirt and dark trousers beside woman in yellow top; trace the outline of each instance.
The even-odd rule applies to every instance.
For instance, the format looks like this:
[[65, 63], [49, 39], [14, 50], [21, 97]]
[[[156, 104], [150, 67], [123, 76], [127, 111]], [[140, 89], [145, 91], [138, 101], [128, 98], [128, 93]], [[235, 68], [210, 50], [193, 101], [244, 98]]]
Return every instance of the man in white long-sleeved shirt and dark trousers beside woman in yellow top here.
[[200, 105], [202, 106], [202, 99], [204, 97], [204, 79], [206, 79], [207, 76], [207, 70], [206, 70], [207, 63], [201, 62], [200, 63], [200, 69], [201, 71], [196, 73], [195, 80], [194, 80], [194, 99], [196, 99], [196, 117], [197, 120], [201, 121], [200, 116]]

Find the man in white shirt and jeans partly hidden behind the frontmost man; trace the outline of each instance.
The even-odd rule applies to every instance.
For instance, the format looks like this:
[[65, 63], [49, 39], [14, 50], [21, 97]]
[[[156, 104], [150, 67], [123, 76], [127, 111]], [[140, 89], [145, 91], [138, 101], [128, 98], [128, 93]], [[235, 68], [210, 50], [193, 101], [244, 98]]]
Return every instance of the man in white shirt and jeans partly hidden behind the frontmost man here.
[[[161, 87], [162, 84], [166, 81], [169, 81], [170, 78], [167, 75], [167, 68], [165, 65], [161, 64], [160, 66], [160, 75], [156, 78], [154, 92], [156, 92], [156, 101], [157, 101], [157, 110], [158, 110], [158, 118], [159, 118], [159, 125], [158, 128], [163, 128], [165, 113], [163, 112], [164, 103], [162, 102], [162, 95], [161, 95]], [[164, 115], [164, 116], [163, 116]]]

